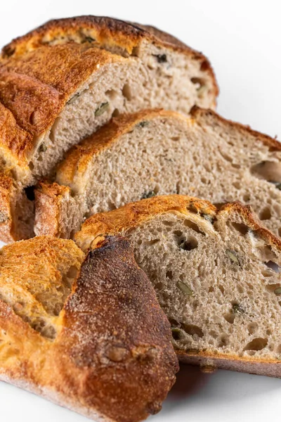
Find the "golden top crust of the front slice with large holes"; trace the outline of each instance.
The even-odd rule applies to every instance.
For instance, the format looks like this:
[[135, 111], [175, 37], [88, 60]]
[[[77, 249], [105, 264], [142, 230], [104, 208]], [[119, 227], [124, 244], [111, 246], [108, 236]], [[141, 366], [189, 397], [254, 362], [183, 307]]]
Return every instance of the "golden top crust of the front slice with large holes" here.
[[281, 240], [271, 231], [261, 225], [259, 219], [251, 210], [249, 205], [241, 203], [229, 203], [217, 210], [207, 200], [201, 200], [185, 195], [154, 196], [143, 199], [136, 203], [129, 203], [117, 210], [100, 212], [86, 219], [74, 236], [74, 240], [83, 249], [96, 247], [100, 236], [122, 234], [127, 230], [139, 226], [145, 221], [154, 218], [156, 215], [165, 212], [179, 212], [188, 215], [190, 212], [197, 214], [199, 218], [209, 221], [214, 219], [227, 218], [233, 212], [242, 215], [248, 226], [256, 231], [261, 238], [264, 238], [270, 245], [281, 250]]

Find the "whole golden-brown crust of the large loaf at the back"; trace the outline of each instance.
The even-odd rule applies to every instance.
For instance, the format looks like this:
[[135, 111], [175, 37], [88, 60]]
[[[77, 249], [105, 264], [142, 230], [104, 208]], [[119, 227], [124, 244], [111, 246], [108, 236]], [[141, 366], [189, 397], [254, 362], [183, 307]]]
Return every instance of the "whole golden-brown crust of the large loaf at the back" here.
[[[131, 54], [144, 41], [181, 51], [192, 60], [199, 60], [202, 71], [211, 75], [214, 96], [218, 94], [207, 58], [169, 34], [152, 27], [143, 28], [112, 18], [81, 16], [52, 20], [4, 47], [0, 107], [5, 115], [11, 114], [6, 119], [5, 131], [13, 132], [13, 142], [8, 136], [5, 141], [0, 137], [4, 153], [8, 147], [11, 160], [27, 166], [35, 137], [53, 124], [74, 91], [99, 66], [124, 60], [106, 51], [110, 46], [119, 46]], [[95, 42], [91, 42], [91, 36]], [[54, 39], [59, 39], [60, 44], [53, 45]]]

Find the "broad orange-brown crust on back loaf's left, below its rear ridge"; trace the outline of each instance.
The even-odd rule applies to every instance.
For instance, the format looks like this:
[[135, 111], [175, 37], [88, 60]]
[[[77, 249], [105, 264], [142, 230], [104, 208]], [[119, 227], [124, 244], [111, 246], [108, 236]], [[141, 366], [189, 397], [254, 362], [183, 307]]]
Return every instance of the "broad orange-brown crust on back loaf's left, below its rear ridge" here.
[[44, 45], [0, 65], [1, 148], [27, 165], [34, 136], [51, 126], [78, 87], [101, 66], [122, 60], [86, 43]]

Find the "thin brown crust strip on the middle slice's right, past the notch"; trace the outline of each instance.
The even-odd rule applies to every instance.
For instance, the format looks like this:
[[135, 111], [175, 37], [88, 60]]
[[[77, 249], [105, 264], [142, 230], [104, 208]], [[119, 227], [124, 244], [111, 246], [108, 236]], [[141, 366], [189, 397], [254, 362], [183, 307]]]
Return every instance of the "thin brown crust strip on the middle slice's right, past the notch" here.
[[262, 142], [264, 145], [269, 146], [269, 148], [273, 148], [273, 150], [275, 151], [281, 151], [281, 142], [277, 141], [277, 139], [273, 139], [266, 134], [261, 134], [260, 132], [251, 129], [251, 127], [245, 124], [233, 122], [232, 120], [227, 120], [211, 109], [207, 110], [198, 106], [193, 106], [190, 110], [190, 115], [196, 120], [198, 124], [201, 124], [202, 127], [204, 127], [204, 125], [206, 124], [210, 124], [211, 126], [222, 124], [224, 127], [227, 127], [227, 129], [235, 129], [236, 131], [241, 132], [245, 136], [254, 136], [256, 141]]

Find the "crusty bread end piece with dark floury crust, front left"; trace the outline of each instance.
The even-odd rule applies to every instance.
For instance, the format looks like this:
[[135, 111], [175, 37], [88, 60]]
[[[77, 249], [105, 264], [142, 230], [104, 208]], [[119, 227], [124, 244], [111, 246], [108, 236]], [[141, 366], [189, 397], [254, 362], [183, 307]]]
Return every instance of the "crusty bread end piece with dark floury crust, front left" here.
[[37, 237], [0, 252], [0, 379], [96, 421], [161, 409], [178, 360], [169, 322], [129, 242], [86, 257]]

